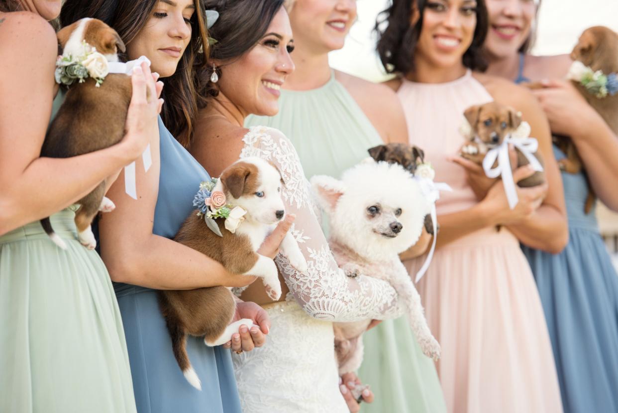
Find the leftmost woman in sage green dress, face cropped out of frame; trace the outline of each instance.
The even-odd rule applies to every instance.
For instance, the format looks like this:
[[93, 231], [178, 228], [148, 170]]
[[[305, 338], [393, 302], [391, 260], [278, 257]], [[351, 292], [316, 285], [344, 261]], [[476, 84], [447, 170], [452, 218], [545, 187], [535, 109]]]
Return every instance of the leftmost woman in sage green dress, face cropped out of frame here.
[[[40, 158], [64, 97], [54, 82], [56, 34], [46, 22], [60, 7], [60, 0], [0, 0], [0, 411], [135, 412], [109, 274], [77, 241], [69, 206], [140, 155], [149, 139], [142, 124], [156, 120], [158, 93], [144, 67], [133, 74], [119, 144]], [[38, 220], [49, 215], [67, 250], [43, 232]]]

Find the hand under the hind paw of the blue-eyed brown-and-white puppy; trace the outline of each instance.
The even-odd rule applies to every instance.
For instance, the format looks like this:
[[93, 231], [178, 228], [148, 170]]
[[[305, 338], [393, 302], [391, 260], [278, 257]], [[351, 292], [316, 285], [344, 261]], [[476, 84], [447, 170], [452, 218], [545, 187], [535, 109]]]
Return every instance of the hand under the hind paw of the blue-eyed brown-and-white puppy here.
[[232, 322], [243, 318], [250, 318], [260, 328], [254, 326], [249, 329], [243, 324], [238, 333], [232, 334], [232, 340], [223, 345], [225, 349], [231, 348], [235, 352], [251, 351], [255, 347], [263, 346], [266, 342], [266, 334], [271, 325], [266, 310], [256, 303], [239, 302], [236, 304], [236, 313]]

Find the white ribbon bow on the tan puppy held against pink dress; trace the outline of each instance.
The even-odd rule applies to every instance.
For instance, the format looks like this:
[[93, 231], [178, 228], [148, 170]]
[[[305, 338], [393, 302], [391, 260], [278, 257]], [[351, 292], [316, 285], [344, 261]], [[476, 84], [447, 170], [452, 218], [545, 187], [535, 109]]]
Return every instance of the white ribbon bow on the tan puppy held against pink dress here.
[[[507, 201], [509, 201], [510, 209], [513, 209], [517, 205], [517, 202], [519, 202], [519, 198], [517, 198], [517, 189], [515, 189], [513, 172], [510, 169], [509, 144], [513, 144], [514, 147], [522, 152], [528, 162], [530, 162], [530, 166], [536, 172], [542, 172], [543, 167], [534, 155], [539, 144], [533, 137], [512, 138], [510, 135], [507, 135], [504, 137], [504, 141], [502, 141], [499, 147], [490, 149], [487, 152], [483, 159], [483, 170], [485, 170], [485, 175], [487, 175], [488, 178], [502, 176], [504, 192], [506, 192], [506, 198]], [[497, 167], [492, 168], [496, 159], [498, 161]]]

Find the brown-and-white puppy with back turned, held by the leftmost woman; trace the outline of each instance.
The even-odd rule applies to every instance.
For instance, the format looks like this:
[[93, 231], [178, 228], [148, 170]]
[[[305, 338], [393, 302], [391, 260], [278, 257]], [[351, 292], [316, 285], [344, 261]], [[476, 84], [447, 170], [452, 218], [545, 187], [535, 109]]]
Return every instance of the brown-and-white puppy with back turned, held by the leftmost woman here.
[[[108, 61], [118, 61], [118, 51], [125, 45], [118, 33], [97, 19], [81, 19], [57, 33], [63, 54], [78, 55], [82, 41], [104, 54]], [[103, 84], [88, 78], [75, 82], [67, 90], [66, 98], [48, 132], [41, 149], [41, 157], [68, 158], [110, 147], [121, 141], [131, 100], [131, 78], [125, 74], [108, 74]], [[75, 225], [82, 245], [88, 249], [96, 246], [90, 224], [99, 211], [109, 212], [114, 203], [104, 198], [106, 182], [96, 186], [91, 193], [76, 203]], [[49, 218], [41, 219], [43, 229], [61, 248], [64, 241], [57, 237]]]

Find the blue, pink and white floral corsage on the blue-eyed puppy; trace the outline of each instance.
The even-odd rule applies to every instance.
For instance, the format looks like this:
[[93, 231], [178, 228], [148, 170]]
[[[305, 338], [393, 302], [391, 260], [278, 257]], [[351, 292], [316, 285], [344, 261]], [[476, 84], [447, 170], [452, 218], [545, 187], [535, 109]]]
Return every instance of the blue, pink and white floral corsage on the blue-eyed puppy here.
[[226, 195], [222, 191], [215, 191], [218, 180], [212, 178], [210, 181], [200, 183], [200, 190], [193, 198], [193, 206], [197, 207], [198, 217], [204, 217], [206, 225], [214, 233], [223, 237], [219, 225], [215, 219], [225, 219], [225, 227], [231, 233], [235, 233], [240, 223], [245, 220], [247, 211], [239, 206], [227, 203]]

